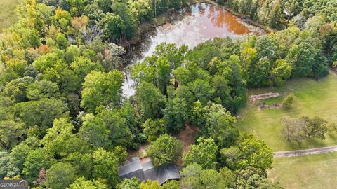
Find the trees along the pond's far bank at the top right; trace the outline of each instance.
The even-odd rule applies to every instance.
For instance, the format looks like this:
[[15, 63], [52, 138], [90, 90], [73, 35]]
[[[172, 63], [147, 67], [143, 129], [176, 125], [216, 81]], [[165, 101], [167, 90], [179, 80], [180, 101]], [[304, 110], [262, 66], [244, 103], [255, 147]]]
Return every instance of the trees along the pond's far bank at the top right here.
[[303, 25], [313, 15], [323, 15], [326, 22], [337, 21], [336, 1], [333, 0], [217, 0], [216, 2], [249, 16], [263, 25], [284, 28], [286, 21]]

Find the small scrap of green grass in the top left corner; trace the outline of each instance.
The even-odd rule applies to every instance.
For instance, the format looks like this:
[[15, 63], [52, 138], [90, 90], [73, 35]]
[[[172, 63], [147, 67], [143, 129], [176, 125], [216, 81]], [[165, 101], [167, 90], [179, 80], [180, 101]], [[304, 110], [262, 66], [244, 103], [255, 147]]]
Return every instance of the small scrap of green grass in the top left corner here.
[[0, 0], [0, 33], [17, 21], [15, 6], [18, 0]]

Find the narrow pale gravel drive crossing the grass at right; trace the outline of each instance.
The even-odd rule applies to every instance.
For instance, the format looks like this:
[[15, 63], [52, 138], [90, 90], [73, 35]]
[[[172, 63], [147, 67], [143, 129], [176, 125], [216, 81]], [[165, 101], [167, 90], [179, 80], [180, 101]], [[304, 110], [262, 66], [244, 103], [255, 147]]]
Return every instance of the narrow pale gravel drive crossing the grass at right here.
[[337, 151], [336, 146], [327, 146], [322, 148], [311, 148], [306, 150], [298, 150], [298, 151], [279, 151], [274, 153], [275, 158], [279, 157], [293, 157], [293, 156], [300, 156], [300, 155], [310, 155], [310, 154], [319, 154], [319, 153], [328, 153]]

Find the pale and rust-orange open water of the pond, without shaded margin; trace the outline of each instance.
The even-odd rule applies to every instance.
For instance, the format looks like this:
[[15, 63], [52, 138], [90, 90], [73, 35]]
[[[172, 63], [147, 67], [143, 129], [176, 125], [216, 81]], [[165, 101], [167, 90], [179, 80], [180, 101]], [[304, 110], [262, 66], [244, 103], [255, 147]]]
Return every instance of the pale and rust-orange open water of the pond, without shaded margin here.
[[[170, 20], [175, 21], [157, 27], [145, 37], [136, 50], [138, 53], [135, 53], [133, 64], [152, 55], [156, 46], [163, 42], [176, 43], [178, 46], [185, 44], [194, 48], [214, 37], [234, 39], [247, 34], [265, 34], [265, 30], [260, 27], [249, 25], [230, 11], [207, 3], [182, 8], [173, 13]], [[134, 94], [132, 85], [133, 80], [128, 76], [128, 79], [124, 80], [124, 96], [130, 97]]]

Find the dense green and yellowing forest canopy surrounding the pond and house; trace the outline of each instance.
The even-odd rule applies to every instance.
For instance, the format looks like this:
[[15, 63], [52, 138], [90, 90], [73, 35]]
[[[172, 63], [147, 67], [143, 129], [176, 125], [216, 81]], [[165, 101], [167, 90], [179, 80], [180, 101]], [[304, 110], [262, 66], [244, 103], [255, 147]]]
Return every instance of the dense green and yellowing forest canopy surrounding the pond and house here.
[[[131, 66], [136, 94], [125, 97], [124, 47], [157, 15], [187, 3], [20, 1], [20, 20], [0, 34], [0, 177], [35, 188], [159, 188], [117, 174], [128, 149], [150, 142], [155, 165], [183, 157], [185, 188], [281, 188], [267, 179], [272, 151], [239, 133], [234, 114], [248, 88], [319, 79], [337, 66], [336, 1], [218, 1], [287, 27], [192, 49], [161, 43]], [[199, 133], [182, 154], [169, 134], [187, 123]]]

